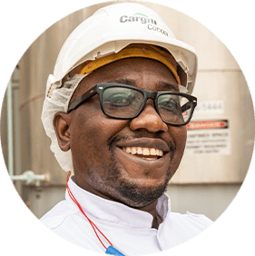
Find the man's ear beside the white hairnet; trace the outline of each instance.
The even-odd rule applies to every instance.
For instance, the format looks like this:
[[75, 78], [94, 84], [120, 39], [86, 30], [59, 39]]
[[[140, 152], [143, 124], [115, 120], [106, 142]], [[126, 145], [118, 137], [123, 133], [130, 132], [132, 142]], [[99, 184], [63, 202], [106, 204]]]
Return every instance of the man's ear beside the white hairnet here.
[[70, 149], [70, 114], [64, 112], [55, 113], [53, 124], [60, 149], [67, 152]]

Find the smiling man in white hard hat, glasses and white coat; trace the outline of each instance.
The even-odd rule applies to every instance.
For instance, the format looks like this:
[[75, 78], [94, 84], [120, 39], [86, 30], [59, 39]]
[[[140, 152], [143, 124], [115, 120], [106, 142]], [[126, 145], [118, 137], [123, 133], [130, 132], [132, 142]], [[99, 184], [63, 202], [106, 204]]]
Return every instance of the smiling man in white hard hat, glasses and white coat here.
[[46, 227], [91, 251], [145, 255], [211, 225], [171, 212], [164, 194], [196, 106], [196, 68], [191, 46], [143, 5], [109, 5], [74, 30], [42, 114], [56, 159], [74, 175], [66, 199], [40, 220]]

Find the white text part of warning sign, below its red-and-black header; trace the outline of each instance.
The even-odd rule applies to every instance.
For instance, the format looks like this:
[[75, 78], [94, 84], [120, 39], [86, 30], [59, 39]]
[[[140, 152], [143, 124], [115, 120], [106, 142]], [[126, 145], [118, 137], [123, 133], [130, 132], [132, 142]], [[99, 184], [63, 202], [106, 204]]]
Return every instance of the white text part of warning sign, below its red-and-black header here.
[[187, 155], [230, 154], [230, 129], [188, 130]]

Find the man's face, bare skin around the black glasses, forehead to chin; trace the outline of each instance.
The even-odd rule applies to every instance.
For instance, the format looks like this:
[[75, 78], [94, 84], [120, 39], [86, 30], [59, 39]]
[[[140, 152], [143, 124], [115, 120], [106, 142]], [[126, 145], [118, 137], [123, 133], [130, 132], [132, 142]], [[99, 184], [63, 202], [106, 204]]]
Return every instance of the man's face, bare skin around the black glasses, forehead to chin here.
[[[74, 97], [95, 84], [131, 84], [150, 91], [172, 91], [168, 84], [178, 84], [163, 64], [144, 58], [120, 60], [103, 66], [83, 79]], [[162, 122], [152, 100], [132, 120], [117, 120], [103, 114], [95, 95], [69, 113], [70, 148], [76, 183], [104, 198], [135, 208], [157, 200], [176, 172], [186, 143], [186, 126]], [[164, 152], [155, 156], [127, 153], [138, 148]], [[126, 150], [126, 151], [124, 151]], [[144, 152], [145, 150], [145, 152]]]

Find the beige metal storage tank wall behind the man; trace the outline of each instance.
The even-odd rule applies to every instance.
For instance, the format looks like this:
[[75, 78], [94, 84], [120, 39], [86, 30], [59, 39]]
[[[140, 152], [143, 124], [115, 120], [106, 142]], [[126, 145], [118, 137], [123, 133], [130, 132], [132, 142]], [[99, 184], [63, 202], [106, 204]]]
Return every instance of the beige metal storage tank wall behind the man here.
[[[191, 16], [165, 5], [122, 2], [151, 7], [179, 40], [197, 51], [199, 72], [193, 95], [198, 98], [198, 107], [188, 126], [186, 150], [168, 194], [173, 212], [204, 213], [216, 221], [244, 182], [254, 151], [254, 103], [245, 75], [221, 39]], [[47, 173], [45, 177], [49, 178], [39, 186], [15, 182], [36, 218], [64, 199], [66, 180], [41, 122], [48, 74], [53, 73], [56, 57], [74, 28], [98, 8], [115, 3], [85, 7], [48, 27], [27, 48], [13, 74], [14, 174], [31, 170], [37, 175]], [[0, 133], [5, 164], [9, 166], [6, 108], [5, 93]]]

